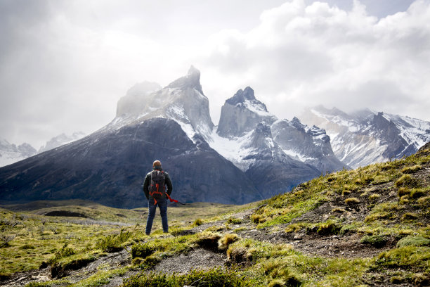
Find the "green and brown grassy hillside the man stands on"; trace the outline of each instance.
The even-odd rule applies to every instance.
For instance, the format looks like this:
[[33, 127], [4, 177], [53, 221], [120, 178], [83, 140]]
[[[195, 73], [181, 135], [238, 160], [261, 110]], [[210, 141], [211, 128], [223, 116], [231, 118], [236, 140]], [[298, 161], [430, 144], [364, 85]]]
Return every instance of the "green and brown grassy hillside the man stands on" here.
[[0, 210], [4, 285], [430, 284], [430, 148], [252, 205], [169, 208], [170, 234], [157, 217], [145, 236], [145, 208], [54, 205]]

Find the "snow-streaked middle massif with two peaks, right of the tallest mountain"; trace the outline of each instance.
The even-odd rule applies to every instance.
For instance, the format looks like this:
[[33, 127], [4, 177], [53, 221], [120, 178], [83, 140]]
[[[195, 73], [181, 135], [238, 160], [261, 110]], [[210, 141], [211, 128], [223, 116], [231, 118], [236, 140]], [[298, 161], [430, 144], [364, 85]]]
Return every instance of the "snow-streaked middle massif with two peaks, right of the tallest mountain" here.
[[[257, 128], [258, 127], [258, 128]], [[256, 130], [266, 132], [256, 133]], [[265, 134], [256, 141], [253, 136]], [[309, 165], [318, 170], [316, 175], [341, 170], [346, 165], [334, 156], [330, 146], [330, 137], [323, 129], [308, 127], [294, 118], [278, 120], [268, 112], [264, 103], [255, 98], [252, 88], [240, 89], [226, 100], [221, 108], [221, 117], [216, 133], [211, 135], [209, 145], [232, 161], [237, 167], [247, 172], [254, 162], [268, 160], [284, 162], [282, 174], [290, 174], [289, 165], [302, 166], [306, 172], [314, 174]], [[306, 165], [303, 165], [303, 164]], [[309, 165], [307, 165], [309, 164]], [[269, 165], [269, 162], [268, 162]], [[300, 176], [297, 175], [297, 178]]]

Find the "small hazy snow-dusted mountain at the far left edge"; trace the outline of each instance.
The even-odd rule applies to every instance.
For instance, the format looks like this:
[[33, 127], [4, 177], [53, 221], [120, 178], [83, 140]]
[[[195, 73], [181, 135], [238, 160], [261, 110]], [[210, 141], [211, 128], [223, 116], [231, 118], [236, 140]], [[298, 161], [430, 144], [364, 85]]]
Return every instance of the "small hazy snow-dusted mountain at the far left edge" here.
[[24, 160], [36, 153], [36, 149], [30, 144], [24, 143], [16, 146], [10, 144], [6, 139], [0, 139], [0, 167]]

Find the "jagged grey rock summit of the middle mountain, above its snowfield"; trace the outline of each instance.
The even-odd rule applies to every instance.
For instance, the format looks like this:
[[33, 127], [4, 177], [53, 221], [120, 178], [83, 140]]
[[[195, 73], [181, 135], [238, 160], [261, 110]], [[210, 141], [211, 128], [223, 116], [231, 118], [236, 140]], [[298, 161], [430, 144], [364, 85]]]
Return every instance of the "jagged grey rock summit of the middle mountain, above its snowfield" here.
[[266, 105], [257, 100], [251, 87], [240, 89], [228, 98], [221, 108], [217, 133], [220, 136], [243, 136], [252, 131], [259, 122], [271, 125], [276, 117], [268, 113]]

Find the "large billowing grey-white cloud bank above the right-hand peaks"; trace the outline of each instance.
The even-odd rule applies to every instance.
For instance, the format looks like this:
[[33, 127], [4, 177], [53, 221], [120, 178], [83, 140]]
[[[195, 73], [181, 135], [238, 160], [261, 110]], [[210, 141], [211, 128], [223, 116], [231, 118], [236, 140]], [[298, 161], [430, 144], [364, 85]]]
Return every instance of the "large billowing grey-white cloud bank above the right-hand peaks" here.
[[214, 35], [204, 65], [226, 75], [224, 90], [254, 87], [279, 117], [324, 104], [430, 120], [428, 19], [429, 1], [382, 19], [359, 1], [351, 11], [289, 1], [263, 12], [247, 33]]

